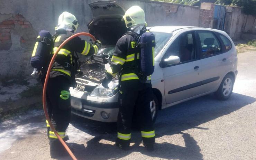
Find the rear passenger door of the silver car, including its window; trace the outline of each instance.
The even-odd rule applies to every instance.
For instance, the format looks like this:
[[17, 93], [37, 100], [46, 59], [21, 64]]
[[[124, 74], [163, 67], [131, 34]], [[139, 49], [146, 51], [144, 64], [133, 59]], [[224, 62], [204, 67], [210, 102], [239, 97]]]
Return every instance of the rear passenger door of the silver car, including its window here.
[[221, 41], [211, 30], [196, 31], [201, 44], [201, 78], [202, 85], [199, 87], [201, 93], [210, 92], [218, 88], [222, 80], [227, 63], [227, 57], [223, 53]]

